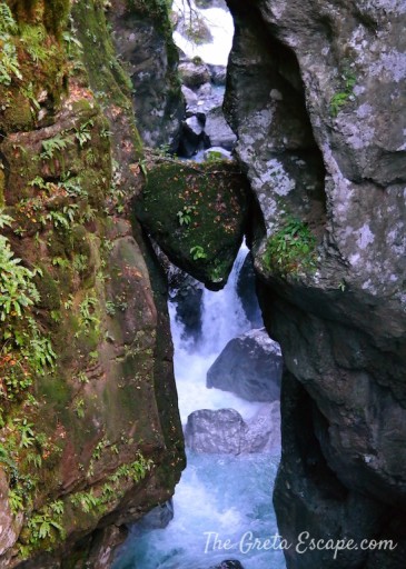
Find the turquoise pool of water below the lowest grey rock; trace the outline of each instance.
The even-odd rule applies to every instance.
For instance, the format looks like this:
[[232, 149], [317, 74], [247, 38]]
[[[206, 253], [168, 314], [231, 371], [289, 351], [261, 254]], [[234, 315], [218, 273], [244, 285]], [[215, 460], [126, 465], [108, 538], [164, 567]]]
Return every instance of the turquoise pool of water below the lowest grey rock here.
[[112, 569], [209, 569], [226, 559], [245, 569], [285, 569], [271, 503], [278, 461], [190, 453], [172, 521], [165, 529], [133, 527]]

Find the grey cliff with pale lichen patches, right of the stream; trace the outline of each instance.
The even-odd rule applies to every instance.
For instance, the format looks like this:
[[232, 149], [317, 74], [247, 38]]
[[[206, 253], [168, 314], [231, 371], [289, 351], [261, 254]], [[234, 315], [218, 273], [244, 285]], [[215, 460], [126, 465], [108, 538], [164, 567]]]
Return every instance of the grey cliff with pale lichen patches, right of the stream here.
[[226, 110], [265, 220], [255, 263], [286, 365], [280, 532], [399, 543], [336, 560], [288, 551], [288, 567], [402, 567], [404, 4], [228, 4]]

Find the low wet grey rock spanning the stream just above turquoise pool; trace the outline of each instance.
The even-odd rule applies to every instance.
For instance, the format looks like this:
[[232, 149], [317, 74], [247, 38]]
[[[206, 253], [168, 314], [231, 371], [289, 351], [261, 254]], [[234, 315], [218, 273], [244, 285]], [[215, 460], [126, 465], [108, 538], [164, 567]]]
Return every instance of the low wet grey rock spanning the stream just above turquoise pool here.
[[246, 422], [235, 409], [201, 409], [189, 415], [186, 446], [195, 452], [241, 455], [276, 450], [280, 446], [280, 410], [265, 405]]

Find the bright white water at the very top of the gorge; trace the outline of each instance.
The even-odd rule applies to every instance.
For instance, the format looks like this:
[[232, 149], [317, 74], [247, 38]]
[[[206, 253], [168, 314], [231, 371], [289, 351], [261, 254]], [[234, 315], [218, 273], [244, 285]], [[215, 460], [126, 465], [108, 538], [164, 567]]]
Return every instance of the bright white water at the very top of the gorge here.
[[[221, 8], [208, 8], [201, 10], [194, 3], [191, 18], [200, 17], [206, 26], [210, 29], [212, 41], [209, 43], [197, 44], [190, 39], [185, 38], [178, 31], [174, 32], [175, 43], [180, 48], [190, 59], [198, 56], [206, 63], [214, 66], [227, 66], [228, 54], [231, 50], [234, 22], [232, 17], [228, 10]], [[185, 14], [185, 18], [190, 18], [190, 8], [184, 0], [175, 0], [172, 4], [175, 12]]]

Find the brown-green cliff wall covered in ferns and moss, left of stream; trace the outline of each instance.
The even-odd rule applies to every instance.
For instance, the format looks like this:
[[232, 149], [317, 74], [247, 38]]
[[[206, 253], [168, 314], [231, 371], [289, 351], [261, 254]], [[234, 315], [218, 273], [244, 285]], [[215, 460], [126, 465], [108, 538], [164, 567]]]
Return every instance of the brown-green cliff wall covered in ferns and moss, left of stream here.
[[0, 567], [101, 569], [184, 467], [142, 149], [101, 2], [0, 10]]

